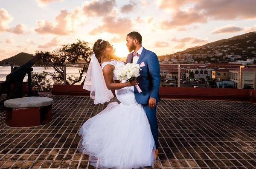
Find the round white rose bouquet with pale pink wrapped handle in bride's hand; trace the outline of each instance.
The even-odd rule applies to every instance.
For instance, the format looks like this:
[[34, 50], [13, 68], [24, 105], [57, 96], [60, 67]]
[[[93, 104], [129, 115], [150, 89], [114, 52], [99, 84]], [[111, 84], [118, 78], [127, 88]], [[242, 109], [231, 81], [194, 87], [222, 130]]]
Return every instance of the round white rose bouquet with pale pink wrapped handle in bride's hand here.
[[[131, 82], [140, 76], [140, 70], [141, 68], [139, 64], [127, 63], [115, 70], [115, 74], [117, 80], [126, 80], [126, 82]], [[139, 93], [142, 92], [138, 85], [135, 85], [135, 87]]]

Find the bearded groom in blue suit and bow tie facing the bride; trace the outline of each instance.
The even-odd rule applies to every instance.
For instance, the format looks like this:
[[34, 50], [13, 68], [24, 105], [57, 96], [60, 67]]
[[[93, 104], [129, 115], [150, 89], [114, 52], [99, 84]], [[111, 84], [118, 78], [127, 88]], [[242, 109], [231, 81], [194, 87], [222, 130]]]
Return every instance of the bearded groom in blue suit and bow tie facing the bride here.
[[126, 46], [131, 54], [128, 54], [126, 63], [139, 64], [140, 76], [137, 81], [140, 84], [141, 93], [134, 87], [135, 99], [143, 105], [151, 127], [151, 132], [156, 144], [156, 158], [158, 156], [158, 125], [156, 116], [157, 102], [160, 101], [160, 66], [157, 55], [143, 48], [142, 36], [138, 32], [131, 32], [126, 37]]

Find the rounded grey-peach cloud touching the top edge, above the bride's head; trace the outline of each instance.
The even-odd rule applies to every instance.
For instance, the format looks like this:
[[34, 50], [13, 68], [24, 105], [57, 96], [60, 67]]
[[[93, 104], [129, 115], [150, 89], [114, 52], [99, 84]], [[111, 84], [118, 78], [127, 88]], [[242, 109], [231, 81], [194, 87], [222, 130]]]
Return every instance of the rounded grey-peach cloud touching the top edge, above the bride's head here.
[[113, 7], [116, 6], [115, 0], [92, 0], [84, 2], [82, 9], [87, 16], [105, 16], [111, 13]]

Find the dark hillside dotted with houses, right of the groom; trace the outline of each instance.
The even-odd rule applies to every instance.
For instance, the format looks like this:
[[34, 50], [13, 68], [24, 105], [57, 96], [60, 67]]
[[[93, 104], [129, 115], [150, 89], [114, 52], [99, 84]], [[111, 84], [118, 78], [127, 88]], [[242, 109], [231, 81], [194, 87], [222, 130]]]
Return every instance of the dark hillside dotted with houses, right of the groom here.
[[[210, 42], [202, 46], [195, 46], [184, 51], [176, 52], [175, 54], [159, 56], [159, 59], [172, 58], [178, 62], [191, 63], [190, 61], [184, 60], [184, 56], [198, 63], [218, 64], [256, 58], [256, 31], [229, 39]], [[166, 62], [170, 62], [170, 60]]]

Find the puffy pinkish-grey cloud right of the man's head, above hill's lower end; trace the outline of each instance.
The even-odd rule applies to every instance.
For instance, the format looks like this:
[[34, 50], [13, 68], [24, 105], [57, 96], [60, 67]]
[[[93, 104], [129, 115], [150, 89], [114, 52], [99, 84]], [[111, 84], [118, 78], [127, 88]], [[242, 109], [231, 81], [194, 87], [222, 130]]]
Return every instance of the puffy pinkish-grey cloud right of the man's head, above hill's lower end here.
[[171, 21], [163, 21], [161, 23], [162, 29], [173, 29], [180, 26], [191, 25], [193, 23], [207, 23], [207, 18], [203, 13], [189, 10], [189, 11], [176, 11]]

